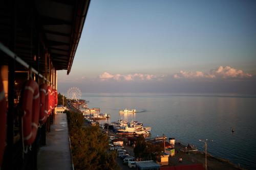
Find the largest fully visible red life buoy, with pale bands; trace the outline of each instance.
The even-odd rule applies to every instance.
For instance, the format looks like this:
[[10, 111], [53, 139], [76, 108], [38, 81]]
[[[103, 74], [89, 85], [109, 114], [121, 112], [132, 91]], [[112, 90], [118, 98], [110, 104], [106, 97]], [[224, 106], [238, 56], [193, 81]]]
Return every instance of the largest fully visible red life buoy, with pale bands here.
[[23, 136], [26, 144], [35, 140], [39, 121], [39, 88], [37, 83], [30, 79], [25, 83], [22, 96]]

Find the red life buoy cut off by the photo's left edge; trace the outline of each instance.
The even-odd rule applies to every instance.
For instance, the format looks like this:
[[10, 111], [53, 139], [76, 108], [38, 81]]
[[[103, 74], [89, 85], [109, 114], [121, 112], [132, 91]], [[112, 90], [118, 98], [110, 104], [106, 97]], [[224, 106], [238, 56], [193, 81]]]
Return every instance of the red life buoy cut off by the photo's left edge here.
[[6, 138], [6, 99], [3, 80], [0, 75], [0, 167], [2, 166]]

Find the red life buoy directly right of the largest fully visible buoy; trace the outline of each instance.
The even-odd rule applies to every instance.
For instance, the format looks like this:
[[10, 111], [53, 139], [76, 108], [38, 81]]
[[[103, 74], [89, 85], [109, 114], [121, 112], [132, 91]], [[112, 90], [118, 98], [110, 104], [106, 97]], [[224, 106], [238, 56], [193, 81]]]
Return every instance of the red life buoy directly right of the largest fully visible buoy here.
[[48, 116], [48, 88], [47, 84], [40, 85], [40, 116], [39, 122], [41, 124], [46, 123]]

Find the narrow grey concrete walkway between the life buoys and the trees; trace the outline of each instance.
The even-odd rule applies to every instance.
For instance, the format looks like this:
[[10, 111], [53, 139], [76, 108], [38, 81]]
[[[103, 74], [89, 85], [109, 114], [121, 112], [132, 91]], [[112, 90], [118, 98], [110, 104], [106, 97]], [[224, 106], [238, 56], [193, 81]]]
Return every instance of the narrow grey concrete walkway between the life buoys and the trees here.
[[46, 145], [39, 149], [37, 168], [38, 170], [72, 169], [66, 114], [55, 114], [51, 132], [46, 135]]

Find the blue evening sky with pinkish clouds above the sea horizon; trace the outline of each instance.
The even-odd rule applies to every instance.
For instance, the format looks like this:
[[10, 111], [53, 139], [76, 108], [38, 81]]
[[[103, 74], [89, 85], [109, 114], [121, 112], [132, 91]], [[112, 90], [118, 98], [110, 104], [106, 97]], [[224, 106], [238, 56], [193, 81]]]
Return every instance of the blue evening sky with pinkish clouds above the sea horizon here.
[[256, 94], [256, 1], [91, 1], [62, 93]]

